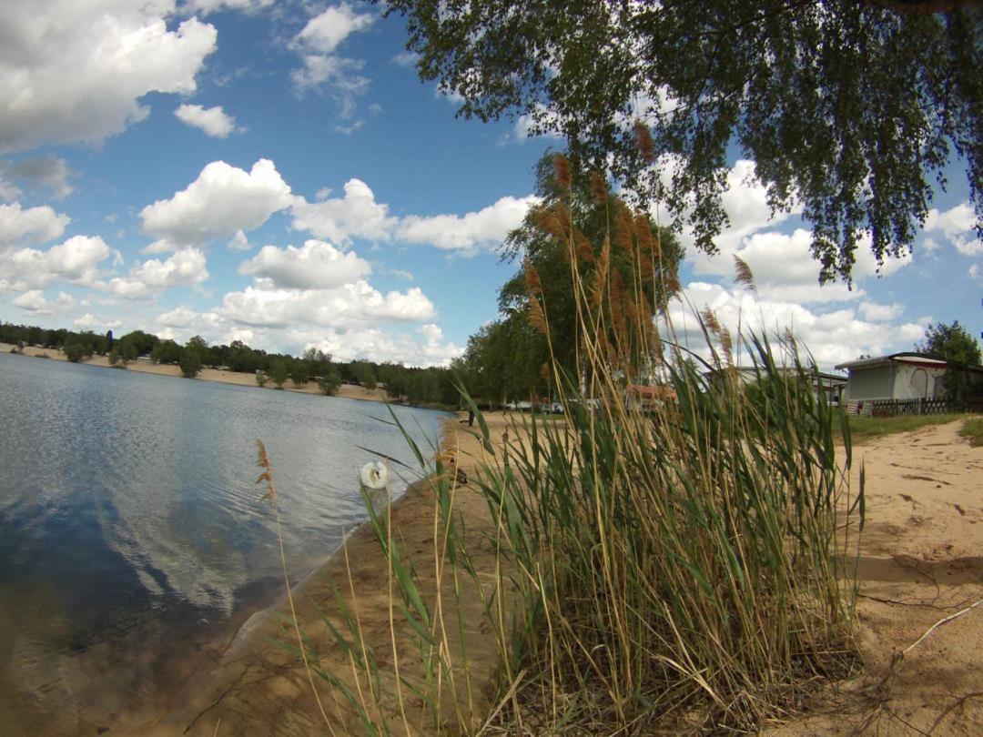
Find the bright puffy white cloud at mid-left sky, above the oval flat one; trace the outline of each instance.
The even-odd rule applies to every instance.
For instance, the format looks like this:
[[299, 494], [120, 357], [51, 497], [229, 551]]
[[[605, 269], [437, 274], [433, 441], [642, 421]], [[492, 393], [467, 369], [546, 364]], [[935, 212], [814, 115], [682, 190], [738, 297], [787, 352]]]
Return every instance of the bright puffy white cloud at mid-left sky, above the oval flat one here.
[[290, 187], [268, 159], [261, 158], [249, 172], [212, 161], [186, 189], [148, 204], [140, 216], [144, 230], [162, 242], [151, 244], [152, 253], [259, 228], [293, 201]]

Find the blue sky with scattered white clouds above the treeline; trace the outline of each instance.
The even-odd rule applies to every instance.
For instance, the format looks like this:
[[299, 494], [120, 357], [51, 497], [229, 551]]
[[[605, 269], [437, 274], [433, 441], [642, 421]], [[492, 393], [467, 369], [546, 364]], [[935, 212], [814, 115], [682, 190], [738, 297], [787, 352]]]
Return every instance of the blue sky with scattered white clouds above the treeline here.
[[[562, 142], [456, 117], [405, 42], [368, 3], [4, 0], [0, 319], [447, 365], [495, 318], [516, 268], [496, 249]], [[682, 233], [687, 305], [790, 327], [824, 369], [929, 323], [983, 330], [957, 162], [913, 254], [879, 267], [861, 245], [852, 289], [819, 286], [808, 224], [772, 215], [753, 161], [729, 165], [719, 255]]]

